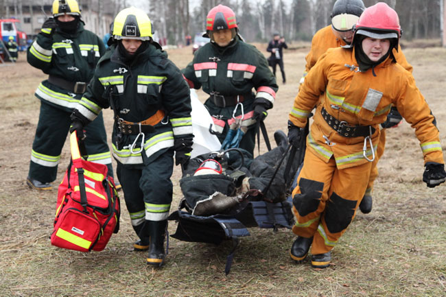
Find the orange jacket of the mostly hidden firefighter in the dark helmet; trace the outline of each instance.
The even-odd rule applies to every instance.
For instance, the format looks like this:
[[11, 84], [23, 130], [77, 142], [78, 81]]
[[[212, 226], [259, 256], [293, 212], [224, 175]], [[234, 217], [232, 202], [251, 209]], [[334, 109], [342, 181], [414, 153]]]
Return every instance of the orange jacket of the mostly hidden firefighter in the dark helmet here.
[[[320, 56], [325, 54], [325, 51], [327, 51], [327, 49], [345, 45], [347, 45], [347, 43], [345, 43], [342, 38], [337, 38], [336, 35], [333, 33], [331, 25], [320, 29], [318, 32], [316, 32], [316, 34], [314, 34], [312, 39], [312, 49], [310, 49], [309, 53], [305, 57], [307, 64], [305, 64], [305, 72], [303, 73], [303, 76], [305, 77], [305, 75], [307, 75], [309, 69], [312, 69], [314, 64], [316, 64]], [[408, 60], [406, 60], [406, 56], [404, 56], [399, 45], [398, 51], [396, 49], [393, 49], [393, 56], [395, 56], [398, 64], [404, 67], [404, 69], [406, 69], [407, 71], [412, 72], [412, 65], [408, 63]]]

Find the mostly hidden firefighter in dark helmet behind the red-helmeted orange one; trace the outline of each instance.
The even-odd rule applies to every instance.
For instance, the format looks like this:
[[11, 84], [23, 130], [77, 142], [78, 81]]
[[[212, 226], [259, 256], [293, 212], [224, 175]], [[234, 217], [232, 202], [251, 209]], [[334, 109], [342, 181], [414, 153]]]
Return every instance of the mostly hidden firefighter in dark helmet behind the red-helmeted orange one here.
[[[366, 7], [362, 0], [337, 0], [334, 3], [331, 12], [331, 25], [320, 29], [312, 39], [312, 48], [305, 57], [307, 64], [305, 64], [305, 72], [301, 79], [301, 85], [303, 84], [305, 75], [307, 75], [309, 69], [314, 67], [318, 58], [320, 58], [322, 54], [325, 54], [327, 49], [334, 47], [349, 47], [351, 45], [351, 40], [353, 39], [353, 25], [355, 25], [357, 19], [359, 19], [365, 9]], [[397, 48], [393, 49], [392, 54], [397, 59], [398, 64], [412, 73], [412, 65], [406, 60], [399, 45]], [[320, 97], [321, 100], [323, 100], [325, 94], [322, 94]], [[376, 158], [372, 165], [370, 180], [368, 181], [367, 189], [362, 195], [362, 200], [360, 202], [360, 210], [362, 213], [370, 213], [372, 210], [373, 182], [375, 182], [375, 179], [378, 176], [377, 163], [379, 158], [384, 154], [384, 147], [386, 145], [385, 129], [397, 126], [401, 120], [402, 117], [397, 108], [392, 106], [388, 113], [387, 120], [379, 126], [379, 128], [382, 129], [382, 132], [379, 139]]]

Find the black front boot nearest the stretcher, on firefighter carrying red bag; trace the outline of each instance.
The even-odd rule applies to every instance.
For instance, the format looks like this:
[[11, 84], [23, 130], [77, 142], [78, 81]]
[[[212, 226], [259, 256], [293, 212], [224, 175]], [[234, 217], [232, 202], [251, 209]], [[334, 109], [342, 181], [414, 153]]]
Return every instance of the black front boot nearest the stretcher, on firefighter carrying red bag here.
[[150, 244], [149, 254], [147, 257], [147, 263], [149, 265], [161, 267], [164, 264], [165, 251], [164, 251], [164, 239], [167, 229], [167, 219], [163, 221], [148, 221], [150, 230]]

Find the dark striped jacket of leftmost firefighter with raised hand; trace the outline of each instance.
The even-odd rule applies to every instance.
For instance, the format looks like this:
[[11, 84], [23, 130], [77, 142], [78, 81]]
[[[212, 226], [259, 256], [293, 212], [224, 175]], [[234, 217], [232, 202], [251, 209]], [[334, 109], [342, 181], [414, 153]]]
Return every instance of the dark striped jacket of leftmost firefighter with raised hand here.
[[[42, 29], [37, 35], [27, 49], [28, 63], [69, 82], [88, 83], [97, 61], [105, 52], [104, 43], [96, 34], [84, 29], [82, 23], [75, 34], [55, 30], [51, 34], [51, 29]], [[36, 90], [36, 97], [71, 112], [82, 94], [73, 94], [44, 80]]]

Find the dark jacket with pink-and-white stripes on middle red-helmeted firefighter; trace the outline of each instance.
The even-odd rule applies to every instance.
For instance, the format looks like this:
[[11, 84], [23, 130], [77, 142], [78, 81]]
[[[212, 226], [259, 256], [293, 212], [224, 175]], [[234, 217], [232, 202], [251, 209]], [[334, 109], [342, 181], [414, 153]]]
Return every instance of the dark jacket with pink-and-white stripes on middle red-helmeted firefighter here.
[[[253, 110], [255, 101], [269, 102], [272, 108], [277, 89], [276, 79], [268, 67], [266, 58], [253, 45], [248, 45], [238, 36], [227, 47], [219, 47], [215, 43], [207, 43], [196, 52], [191, 63], [183, 69], [183, 74], [191, 88], [202, 88], [211, 95], [236, 96], [248, 94], [251, 98], [243, 102], [245, 121], [249, 120], [248, 112]], [[253, 88], [256, 93], [253, 93]], [[205, 102], [213, 116], [226, 120], [232, 116], [235, 106], [219, 108], [209, 97]], [[237, 110], [236, 114], [239, 115]], [[252, 114], [252, 112], [251, 112]]]

